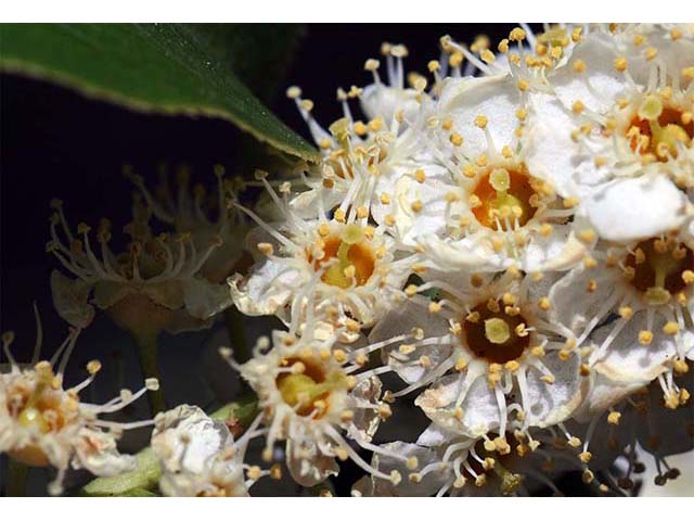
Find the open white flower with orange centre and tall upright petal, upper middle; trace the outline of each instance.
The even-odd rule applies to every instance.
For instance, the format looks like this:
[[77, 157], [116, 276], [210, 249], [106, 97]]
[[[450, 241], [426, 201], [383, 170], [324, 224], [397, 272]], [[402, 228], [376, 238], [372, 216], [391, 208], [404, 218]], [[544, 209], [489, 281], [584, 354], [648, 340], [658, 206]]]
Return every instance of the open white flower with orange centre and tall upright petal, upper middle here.
[[424, 139], [449, 175], [424, 181], [427, 199], [402, 178], [396, 198], [396, 223], [412, 221], [430, 264], [541, 271], [566, 269], [584, 254], [586, 226], [567, 223], [578, 201], [527, 166], [523, 132], [532, 122], [524, 98], [510, 75], [441, 84]]

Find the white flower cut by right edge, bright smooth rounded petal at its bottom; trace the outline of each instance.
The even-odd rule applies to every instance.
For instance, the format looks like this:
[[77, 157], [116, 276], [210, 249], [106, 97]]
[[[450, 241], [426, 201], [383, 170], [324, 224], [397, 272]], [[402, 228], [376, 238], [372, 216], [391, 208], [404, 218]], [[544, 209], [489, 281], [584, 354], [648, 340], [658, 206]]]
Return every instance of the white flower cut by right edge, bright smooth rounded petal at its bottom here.
[[583, 199], [581, 215], [605, 239], [663, 233], [691, 214], [694, 45], [679, 35], [596, 30], [531, 97], [529, 168]]

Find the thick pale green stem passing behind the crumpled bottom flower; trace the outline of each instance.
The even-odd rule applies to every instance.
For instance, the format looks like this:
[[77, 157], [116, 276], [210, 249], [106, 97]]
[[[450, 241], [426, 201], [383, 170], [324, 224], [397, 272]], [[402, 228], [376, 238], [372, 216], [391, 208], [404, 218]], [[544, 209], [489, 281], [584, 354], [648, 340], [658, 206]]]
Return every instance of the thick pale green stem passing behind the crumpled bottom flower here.
[[[243, 428], [247, 428], [258, 414], [258, 399], [254, 396], [241, 397], [211, 412], [210, 418], [227, 420], [232, 416]], [[162, 469], [151, 447], [140, 450], [136, 458], [138, 468], [111, 478], [97, 478], [79, 490], [80, 496], [146, 496], [159, 482]]]

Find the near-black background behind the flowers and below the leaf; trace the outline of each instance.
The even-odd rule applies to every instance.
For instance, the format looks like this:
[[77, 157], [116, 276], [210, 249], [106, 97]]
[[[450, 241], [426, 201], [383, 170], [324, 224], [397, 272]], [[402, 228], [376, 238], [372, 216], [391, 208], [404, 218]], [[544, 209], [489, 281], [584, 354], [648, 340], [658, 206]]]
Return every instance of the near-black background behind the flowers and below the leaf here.
[[[363, 71], [363, 63], [368, 58], [378, 58], [382, 41], [404, 43], [410, 51], [406, 71], [426, 73], [426, 63], [439, 58], [440, 36], [450, 34], [459, 41], [470, 42], [484, 33], [496, 42], [512, 28], [507, 24], [309, 24], [286, 80], [264, 101], [290, 127], [308, 138], [294, 102], [284, 97], [286, 86], [299, 85], [305, 97], [316, 102], [318, 120], [327, 126], [342, 116], [336, 89], [370, 82], [371, 75]], [[215, 163], [226, 165], [228, 171], [243, 174], [237, 165], [245, 143], [227, 122], [136, 113], [47, 82], [0, 76], [0, 330], [17, 333], [15, 356], [27, 359], [34, 346], [34, 302], [43, 321], [43, 353], [52, 353], [66, 334], [65, 323], [52, 308], [49, 285], [57, 260], [44, 251], [52, 198], [65, 201], [73, 226], [81, 220], [95, 224], [106, 216], [113, 220], [116, 236], [130, 214], [132, 187], [121, 175], [124, 163], [132, 164], [155, 182], [158, 162], [184, 162], [191, 166], [194, 180], [208, 182]], [[267, 332], [272, 322], [249, 319], [247, 326], [248, 335], [256, 336]], [[216, 346], [220, 342], [224, 342], [220, 327], [163, 340], [159, 360], [169, 405], [192, 403], [209, 407], [234, 397], [239, 384], [219, 363]], [[92, 399], [108, 399], [121, 386], [138, 389], [141, 384], [127, 335], [100, 315], [78, 342], [68, 382], [81, 380], [83, 364], [94, 357], [104, 361], [105, 369], [93, 386]], [[0, 361], [5, 360], [0, 357]], [[147, 417], [144, 401], [129, 414]], [[426, 424], [422, 415], [411, 408], [404, 411], [404, 420], [422, 429]], [[387, 435], [404, 435], [397, 424], [387, 430]], [[416, 433], [410, 434], [416, 437]], [[125, 442], [126, 450], [136, 450], [146, 443], [146, 433]], [[345, 470], [336, 483], [342, 494], [348, 493], [358, 475]], [[31, 486], [34, 494], [44, 491], [42, 480], [34, 480]]]

